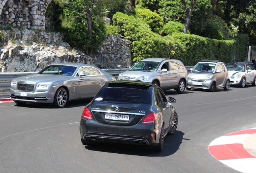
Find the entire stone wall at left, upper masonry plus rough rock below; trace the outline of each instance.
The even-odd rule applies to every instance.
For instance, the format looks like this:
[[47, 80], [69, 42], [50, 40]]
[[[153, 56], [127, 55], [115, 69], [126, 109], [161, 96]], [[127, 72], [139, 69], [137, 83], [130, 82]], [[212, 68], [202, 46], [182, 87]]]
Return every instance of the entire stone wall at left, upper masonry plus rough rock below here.
[[72, 50], [62, 41], [63, 34], [45, 32], [53, 27], [47, 8], [54, 5], [52, 0], [0, 0], [0, 28], [12, 28], [2, 31], [6, 39], [0, 43], [0, 72], [35, 71], [54, 62], [83, 62], [99, 68], [132, 64], [128, 40], [107, 36], [103, 46], [88, 56]]

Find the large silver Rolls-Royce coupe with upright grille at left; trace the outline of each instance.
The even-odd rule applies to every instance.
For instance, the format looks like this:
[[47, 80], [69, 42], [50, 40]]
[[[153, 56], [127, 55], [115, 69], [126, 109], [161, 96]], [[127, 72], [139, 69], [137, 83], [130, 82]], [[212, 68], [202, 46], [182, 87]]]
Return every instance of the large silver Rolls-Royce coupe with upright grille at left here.
[[52, 103], [64, 107], [68, 101], [93, 98], [114, 76], [95, 66], [82, 63], [56, 63], [37, 74], [14, 78], [10, 98], [18, 105]]

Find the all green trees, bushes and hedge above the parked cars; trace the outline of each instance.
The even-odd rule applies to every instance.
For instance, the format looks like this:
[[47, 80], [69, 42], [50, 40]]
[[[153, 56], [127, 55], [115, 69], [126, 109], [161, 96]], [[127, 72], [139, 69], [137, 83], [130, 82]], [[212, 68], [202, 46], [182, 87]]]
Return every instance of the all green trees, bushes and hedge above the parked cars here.
[[202, 59], [232, 62], [235, 55], [239, 62], [247, 46], [256, 45], [256, 2], [244, 1], [55, 0], [55, 28], [89, 54], [110, 35], [130, 41], [133, 61], [161, 57], [194, 65]]

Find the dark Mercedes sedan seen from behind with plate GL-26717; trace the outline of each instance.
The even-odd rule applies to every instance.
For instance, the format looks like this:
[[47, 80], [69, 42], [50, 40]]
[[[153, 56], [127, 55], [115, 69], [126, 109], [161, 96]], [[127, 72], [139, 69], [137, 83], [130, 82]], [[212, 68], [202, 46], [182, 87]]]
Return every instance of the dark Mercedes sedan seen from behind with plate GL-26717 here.
[[99, 142], [149, 146], [161, 152], [164, 137], [175, 133], [178, 115], [169, 97], [156, 84], [107, 82], [83, 110], [80, 122], [84, 145]]

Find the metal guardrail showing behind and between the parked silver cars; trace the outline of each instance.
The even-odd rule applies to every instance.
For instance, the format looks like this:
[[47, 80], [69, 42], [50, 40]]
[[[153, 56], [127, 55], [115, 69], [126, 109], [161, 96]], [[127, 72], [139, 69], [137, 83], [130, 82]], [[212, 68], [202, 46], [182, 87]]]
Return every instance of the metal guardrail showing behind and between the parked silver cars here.
[[[193, 68], [193, 66], [186, 66], [186, 68], [189, 72], [190, 68]], [[102, 70], [117, 78], [120, 73], [125, 72], [128, 68], [110, 68]], [[10, 83], [12, 79], [36, 73], [37, 72], [0, 72], [0, 99], [10, 98]]]

